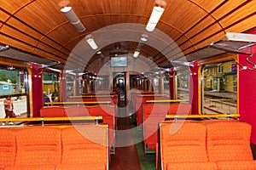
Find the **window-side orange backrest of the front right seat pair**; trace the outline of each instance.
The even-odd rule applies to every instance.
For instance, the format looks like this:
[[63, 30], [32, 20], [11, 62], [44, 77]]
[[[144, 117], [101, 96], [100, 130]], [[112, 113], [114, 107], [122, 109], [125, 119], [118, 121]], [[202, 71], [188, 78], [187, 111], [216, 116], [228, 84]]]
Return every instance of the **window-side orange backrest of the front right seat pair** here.
[[207, 122], [209, 161], [253, 160], [250, 148], [251, 126], [247, 122]]

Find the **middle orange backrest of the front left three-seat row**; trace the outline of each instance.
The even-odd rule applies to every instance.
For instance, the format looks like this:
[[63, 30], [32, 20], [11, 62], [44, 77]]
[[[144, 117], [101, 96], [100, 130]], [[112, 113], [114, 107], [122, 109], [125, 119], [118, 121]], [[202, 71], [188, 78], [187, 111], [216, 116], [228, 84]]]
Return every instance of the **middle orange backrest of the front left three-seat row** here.
[[55, 165], [61, 163], [61, 129], [24, 127], [17, 129], [15, 165]]

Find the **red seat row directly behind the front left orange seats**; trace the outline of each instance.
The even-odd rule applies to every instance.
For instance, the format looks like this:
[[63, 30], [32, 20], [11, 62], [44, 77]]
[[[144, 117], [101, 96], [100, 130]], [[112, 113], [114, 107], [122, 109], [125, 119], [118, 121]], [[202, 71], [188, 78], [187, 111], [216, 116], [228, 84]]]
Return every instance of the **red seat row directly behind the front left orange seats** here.
[[109, 147], [114, 154], [115, 129], [117, 125], [116, 107], [113, 105], [95, 106], [49, 106], [40, 110], [41, 117], [102, 116], [103, 123], [109, 126]]

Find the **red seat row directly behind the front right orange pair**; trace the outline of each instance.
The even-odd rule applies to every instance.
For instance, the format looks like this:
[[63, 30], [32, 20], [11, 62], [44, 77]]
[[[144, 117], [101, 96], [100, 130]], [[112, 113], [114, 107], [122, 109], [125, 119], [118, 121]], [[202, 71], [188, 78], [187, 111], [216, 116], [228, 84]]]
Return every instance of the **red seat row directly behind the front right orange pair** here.
[[181, 114], [190, 115], [191, 105], [183, 103], [143, 105], [143, 148], [146, 154], [156, 150], [159, 123], [165, 121], [166, 115]]

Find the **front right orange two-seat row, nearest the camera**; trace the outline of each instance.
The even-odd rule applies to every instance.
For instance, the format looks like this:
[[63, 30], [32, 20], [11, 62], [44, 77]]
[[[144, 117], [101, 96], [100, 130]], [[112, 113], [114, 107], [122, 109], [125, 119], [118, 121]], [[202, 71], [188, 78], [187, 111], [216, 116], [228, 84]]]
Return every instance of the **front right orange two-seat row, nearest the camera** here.
[[250, 135], [247, 122], [161, 123], [161, 169], [256, 169]]

